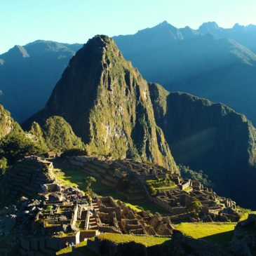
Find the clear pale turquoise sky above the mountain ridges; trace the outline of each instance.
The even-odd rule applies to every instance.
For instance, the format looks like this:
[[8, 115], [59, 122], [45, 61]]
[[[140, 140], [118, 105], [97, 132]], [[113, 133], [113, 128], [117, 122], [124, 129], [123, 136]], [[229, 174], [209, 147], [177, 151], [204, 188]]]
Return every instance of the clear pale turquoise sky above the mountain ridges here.
[[85, 43], [95, 34], [134, 34], [167, 20], [197, 29], [256, 25], [255, 0], [0, 0], [0, 53], [37, 39]]

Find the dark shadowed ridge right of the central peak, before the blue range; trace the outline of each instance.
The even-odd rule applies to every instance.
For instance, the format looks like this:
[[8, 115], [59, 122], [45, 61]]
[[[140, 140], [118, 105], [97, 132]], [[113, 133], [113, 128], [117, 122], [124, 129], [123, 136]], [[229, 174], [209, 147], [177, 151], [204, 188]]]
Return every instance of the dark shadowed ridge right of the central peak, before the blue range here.
[[220, 194], [255, 207], [256, 131], [252, 123], [225, 105], [186, 93], [168, 93], [156, 84], [149, 88], [156, 123], [175, 160], [204, 170]]

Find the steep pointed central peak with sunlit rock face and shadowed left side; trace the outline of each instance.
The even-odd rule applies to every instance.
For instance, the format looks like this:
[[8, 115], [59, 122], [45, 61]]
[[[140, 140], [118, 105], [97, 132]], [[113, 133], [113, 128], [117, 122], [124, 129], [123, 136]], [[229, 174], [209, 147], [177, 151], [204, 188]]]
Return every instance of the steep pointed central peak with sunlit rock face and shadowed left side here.
[[95, 154], [133, 157], [177, 171], [149, 86], [114, 41], [95, 36], [70, 60], [45, 109], [27, 121], [62, 116]]

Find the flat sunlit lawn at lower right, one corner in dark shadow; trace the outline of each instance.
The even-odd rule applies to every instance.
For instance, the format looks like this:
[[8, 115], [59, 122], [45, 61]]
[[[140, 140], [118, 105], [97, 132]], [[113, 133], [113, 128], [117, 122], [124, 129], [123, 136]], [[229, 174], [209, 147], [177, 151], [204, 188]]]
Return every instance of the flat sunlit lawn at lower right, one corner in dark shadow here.
[[187, 236], [227, 245], [231, 241], [236, 222], [183, 222], [176, 225], [176, 229]]

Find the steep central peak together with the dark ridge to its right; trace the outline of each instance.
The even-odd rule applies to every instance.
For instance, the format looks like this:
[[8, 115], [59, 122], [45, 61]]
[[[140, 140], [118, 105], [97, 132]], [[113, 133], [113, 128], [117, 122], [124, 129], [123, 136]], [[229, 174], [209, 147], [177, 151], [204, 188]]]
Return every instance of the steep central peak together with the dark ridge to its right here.
[[[177, 173], [175, 161], [202, 169], [216, 191], [255, 208], [252, 123], [225, 105], [147, 83], [107, 36], [95, 36], [76, 53], [44, 109], [23, 127], [33, 121], [46, 127], [50, 116], [62, 116], [89, 154], [151, 161]], [[50, 123], [62, 133], [62, 119]], [[33, 126], [30, 133], [40, 135]], [[50, 130], [43, 133], [46, 142], [47, 134], [54, 140]]]

